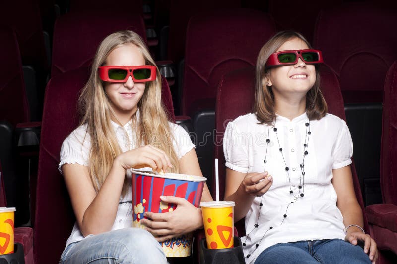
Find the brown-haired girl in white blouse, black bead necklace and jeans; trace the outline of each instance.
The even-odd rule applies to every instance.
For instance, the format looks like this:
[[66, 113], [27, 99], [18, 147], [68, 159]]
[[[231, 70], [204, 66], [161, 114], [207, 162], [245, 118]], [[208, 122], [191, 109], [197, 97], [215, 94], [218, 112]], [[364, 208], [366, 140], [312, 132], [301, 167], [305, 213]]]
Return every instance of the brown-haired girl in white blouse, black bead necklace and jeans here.
[[362, 228], [349, 129], [327, 114], [320, 91], [322, 62], [299, 33], [277, 33], [258, 56], [253, 113], [227, 126], [225, 199], [236, 203], [235, 221], [245, 217], [247, 263], [378, 258]]

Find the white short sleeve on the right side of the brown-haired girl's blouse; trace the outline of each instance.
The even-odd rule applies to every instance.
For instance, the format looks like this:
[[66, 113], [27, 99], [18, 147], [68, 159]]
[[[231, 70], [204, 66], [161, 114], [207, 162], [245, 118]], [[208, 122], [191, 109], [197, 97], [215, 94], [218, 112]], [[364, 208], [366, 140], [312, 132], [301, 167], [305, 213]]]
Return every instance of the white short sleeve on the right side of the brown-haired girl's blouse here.
[[339, 169], [352, 163], [353, 141], [349, 128], [344, 120], [340, 120], [339, 133], [332, 151], [332, 169]]

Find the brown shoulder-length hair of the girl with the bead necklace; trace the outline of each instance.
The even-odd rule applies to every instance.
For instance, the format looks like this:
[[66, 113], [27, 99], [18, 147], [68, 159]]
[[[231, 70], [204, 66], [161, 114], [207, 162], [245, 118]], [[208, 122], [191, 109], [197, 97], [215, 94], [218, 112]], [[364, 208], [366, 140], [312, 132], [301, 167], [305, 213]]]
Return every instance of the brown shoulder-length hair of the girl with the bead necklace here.
[[[271, 67], [266, 68], [265, 64], [271, 54], [276, 52], [284, 42], [299, 38], [311, 49], [310, 43], [300, 33], [294, 31], [280, 31], [269, 39], [261, 48], [257, 65], [255, 66], [255, 103], [253, 112], [256, 113], [260, 124], [271, 125], [276, 114], [274, 112], [274, 95], [271, 86], [266, 85]], [[327, 114], [327, 103], [320, 90], [319, 65], [316, 68], [316, 82], [306, 94], [306, 113], [309, 120], [321, 119]]]

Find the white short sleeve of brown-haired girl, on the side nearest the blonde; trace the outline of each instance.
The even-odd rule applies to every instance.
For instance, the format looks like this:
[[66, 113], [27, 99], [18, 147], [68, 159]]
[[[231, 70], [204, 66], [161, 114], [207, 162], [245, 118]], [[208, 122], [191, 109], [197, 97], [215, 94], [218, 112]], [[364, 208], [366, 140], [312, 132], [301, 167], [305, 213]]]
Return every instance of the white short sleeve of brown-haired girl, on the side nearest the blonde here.
[[246, 173], [248, 172], [248, 144], [246, 137], [234, 121], [227, 124], [225, 135], [223, 136], [223, 153], [225, 155], [226, 167]]

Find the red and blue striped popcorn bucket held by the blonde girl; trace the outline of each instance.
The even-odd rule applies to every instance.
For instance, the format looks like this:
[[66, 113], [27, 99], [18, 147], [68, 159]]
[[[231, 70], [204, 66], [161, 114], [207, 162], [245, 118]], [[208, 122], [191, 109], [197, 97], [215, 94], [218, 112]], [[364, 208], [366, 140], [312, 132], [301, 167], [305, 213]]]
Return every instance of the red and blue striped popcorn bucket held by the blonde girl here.
[[[199, 207], [206, 178], [194, 175], [166, 173], [156, 175], [147, 171], [132, 171], [132, 227], [144, 228], [140, 223], [145, 211], [164, 213], [175, 210], [176, 204], [161, 201], [160, 196], [176, 196]], [[160, 242], [167, 257], [190, 255], [193, 234], [184, 234]]]

